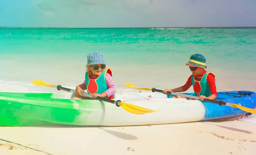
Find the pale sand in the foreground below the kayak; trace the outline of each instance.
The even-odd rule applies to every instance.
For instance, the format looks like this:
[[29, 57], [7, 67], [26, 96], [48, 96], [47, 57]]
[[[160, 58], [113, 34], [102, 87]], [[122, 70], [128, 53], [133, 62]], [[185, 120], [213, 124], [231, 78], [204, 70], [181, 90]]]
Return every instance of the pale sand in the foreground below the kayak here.
[[[0, 138], [52, 155], [255, 155], [255, 125], [205, 121], [134, 127], [0, 127]], [[0, 155], [47, 155], [0, 143]]]

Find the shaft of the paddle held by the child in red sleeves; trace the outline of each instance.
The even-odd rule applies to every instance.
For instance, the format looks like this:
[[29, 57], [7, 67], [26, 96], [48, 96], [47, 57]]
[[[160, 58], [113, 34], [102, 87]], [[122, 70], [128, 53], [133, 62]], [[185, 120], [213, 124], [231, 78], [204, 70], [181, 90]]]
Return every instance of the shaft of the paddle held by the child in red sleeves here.
[[[160, 93], [163, 93], [163, 90], [159, 90], [159, 89], [156, 89], [156, 88], [152, 88], [151, 89], [152, 92], [160, 92]], [[184, 96], [184, 97], [187, 97], [187, 98], [191, 98], [191, 99], [199, 99], [198, 96], [191, 96], [191, 95], [187, 95], [187, 94], [182, 94], [182, 93], [175, 93], [175, 92], [167, 92], [168, 94], [172, 94], [172, 95], [177, 95], [177, 96]], [[215, 104], [218, 104], [218, 105], [227, 105], [227, 106], [231, 106], [230, 103], [226, 103], [224, 101], [216, 101], [216, 100], [212, 100], [212, 99], [204, 99], [204, 101], [206, 102], [211, 102], [211, 103], [215, 103]]]

